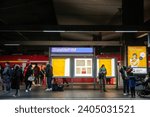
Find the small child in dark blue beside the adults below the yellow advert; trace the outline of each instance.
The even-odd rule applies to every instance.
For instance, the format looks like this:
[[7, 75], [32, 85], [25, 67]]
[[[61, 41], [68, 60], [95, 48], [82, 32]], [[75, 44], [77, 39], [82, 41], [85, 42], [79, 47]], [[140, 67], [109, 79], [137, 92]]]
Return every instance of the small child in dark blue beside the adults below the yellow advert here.
[[130, 76], [129, 77], [129, 87], [130, 87], [132, 98], [135, 98], [135, 86], [136, 86], [135, 76]]

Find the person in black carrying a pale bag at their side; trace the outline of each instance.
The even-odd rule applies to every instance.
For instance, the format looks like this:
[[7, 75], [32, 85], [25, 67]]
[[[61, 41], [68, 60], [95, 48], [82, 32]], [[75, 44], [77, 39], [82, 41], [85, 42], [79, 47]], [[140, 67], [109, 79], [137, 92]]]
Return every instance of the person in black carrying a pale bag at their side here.
[[30, 76], [33, 76], [33, 69], [31, 64], [28, 66], [25, 74], [26, 92], [31, 91], [32, 81], [28, 80]]

